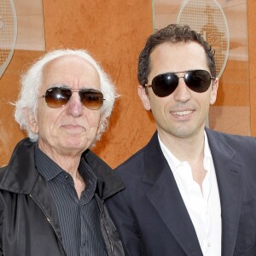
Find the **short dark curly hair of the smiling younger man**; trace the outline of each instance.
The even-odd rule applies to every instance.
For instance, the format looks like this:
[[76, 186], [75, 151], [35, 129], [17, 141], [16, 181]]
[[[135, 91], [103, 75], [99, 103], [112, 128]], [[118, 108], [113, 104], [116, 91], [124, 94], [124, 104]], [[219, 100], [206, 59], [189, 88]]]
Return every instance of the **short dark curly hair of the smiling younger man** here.
[[140, 84], [148, 83], [148, 74], [150, 73], [150, 55], [157, 45], [164, 43], [190, 43], [200, 44], [206, 52], [207, 65], [212, 77], [216, 77], [216, 65], [214, 61], [214, 50], [204, 40], [200, 33], [191, 30], [188, 25], [171, 24], [160, 30], [156, 30], [147, 39], [147, 42], [138, 58], [137, 79]]

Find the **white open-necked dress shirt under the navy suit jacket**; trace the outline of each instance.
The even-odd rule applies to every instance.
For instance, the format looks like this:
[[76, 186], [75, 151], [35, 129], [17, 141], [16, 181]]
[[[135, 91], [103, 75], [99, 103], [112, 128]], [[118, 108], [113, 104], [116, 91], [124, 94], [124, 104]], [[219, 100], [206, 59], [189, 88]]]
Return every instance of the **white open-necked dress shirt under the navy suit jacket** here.
[[221, 255], [221, 207], [218, 183], [205, 132], [204, 168], [207, 172], [202, 183], [193, 179], [191, 167], [187, 161], [179, 161], [161, 142], [160, 148], [172, 170], [179, 192], [195, 227], [195, 232], [204, 256]]

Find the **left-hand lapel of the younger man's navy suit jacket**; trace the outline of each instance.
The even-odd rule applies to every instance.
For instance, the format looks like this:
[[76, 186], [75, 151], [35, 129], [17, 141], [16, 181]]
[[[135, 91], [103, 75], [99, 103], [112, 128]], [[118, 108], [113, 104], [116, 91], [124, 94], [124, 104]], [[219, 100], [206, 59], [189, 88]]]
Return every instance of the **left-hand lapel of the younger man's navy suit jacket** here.
[[172, 171], [160, 149], [157, 133], [146, 148], [143, 181], [153, 185], [148, 192], [148, 200], [172, 232], [172, 236], [183, 247], [184, 252], [188, 255], [202, 256], [194, 226]]

